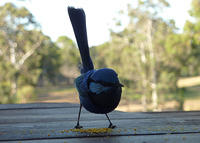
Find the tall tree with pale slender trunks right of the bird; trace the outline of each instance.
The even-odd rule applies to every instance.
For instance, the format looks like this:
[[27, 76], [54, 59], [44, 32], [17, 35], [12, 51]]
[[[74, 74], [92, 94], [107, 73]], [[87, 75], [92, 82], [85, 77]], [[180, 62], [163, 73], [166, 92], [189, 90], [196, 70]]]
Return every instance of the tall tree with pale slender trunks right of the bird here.
[[126, 86], [142, 94], [144, 110], [150, 94], [153, 109], [158, 108], [158, 92], [162, 87], [158, 83], [164, 72], [161, 67], [165, 57], [166, 37], [174, 33], [175, 29], [173, 21], [164, 21], [158, 15], [167, 6], [164, 0], [139, 0], [136, 8], [128, 6], [128, 26], [122, 32], [111, 33], [110, 45], [115, 51], [110, 53], [120, 55], [115, 58], [112, 55], [110, 64], [123, 75], [125, 81], [132, 82]]

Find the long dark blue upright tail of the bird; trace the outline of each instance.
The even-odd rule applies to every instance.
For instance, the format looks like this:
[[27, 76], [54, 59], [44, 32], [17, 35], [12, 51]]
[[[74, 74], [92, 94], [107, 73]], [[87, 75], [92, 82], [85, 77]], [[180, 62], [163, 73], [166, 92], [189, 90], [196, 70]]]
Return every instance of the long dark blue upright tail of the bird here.
[[87, 40], [86, 18], [85, 12], [80, 8], [68, 7], [69, 17], [74, 29], [76, 41], [78, 43], [82, 64], [83, 73], [94, 69]]

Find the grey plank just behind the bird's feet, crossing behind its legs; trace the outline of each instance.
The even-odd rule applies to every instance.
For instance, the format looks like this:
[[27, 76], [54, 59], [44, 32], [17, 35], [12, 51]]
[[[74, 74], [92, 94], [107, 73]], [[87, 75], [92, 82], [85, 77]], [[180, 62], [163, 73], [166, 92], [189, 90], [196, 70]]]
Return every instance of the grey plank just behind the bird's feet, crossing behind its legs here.
[[[72, 110], [73, 109], [73, 110]], [[1, 112], [0, 111], [0, 126], [1, 124], [17, 124], [17, 123], [42, 123], [42, 122], [59, 122], [59, 121], [75, 121], [78, 116], [78, 108], [75, 110], [74, 108], [70, 109], [56, 109], [56, 110], [33, 110], [28, 112], [25, 110], [23, 112], [19, 110], [9, 111], [9, 112]], [[41, 111], [41, 112], [40, 112]], [[46, 112], [45, 112], [46, 111]], [[52, 112], [51, 112], [52, 111]], [[57, 111], [57, 112], [56, 112]], [[73, 111], [73, 112], [72, 112]], [[23, 114], [24, 113], [24, 114]], [[109, 114], [112, 120], [123, 120], [123, 119], [174, 119], [174, 118], [183, 118], [191, 119], [200, 118], [199, 112], [179, 112], [179, 113], [165, 113], [165, 114], [149, 114], [149, 113], [124, 113], [119, 111], [114, 111]], [[89, 113], [83, 109], [81, 114], [81, 121], [90, 121], [90, 120], [106, 120], [105, 115], [102, 114], [93, 114]]]

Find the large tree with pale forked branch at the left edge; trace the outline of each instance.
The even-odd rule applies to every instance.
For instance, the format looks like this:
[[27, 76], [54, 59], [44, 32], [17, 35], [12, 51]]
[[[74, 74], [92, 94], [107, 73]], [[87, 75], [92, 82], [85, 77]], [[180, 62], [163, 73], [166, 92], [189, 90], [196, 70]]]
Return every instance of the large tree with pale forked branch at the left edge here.
[[33, 95], [43, 70], [41, 62], [48, 61], [47, 58], [57, 59], [44, 52], [55, 50], [50, 44], [26, 8], [12, 3], [0, 7], [0, 103], [12, 103], [21, 96]]

